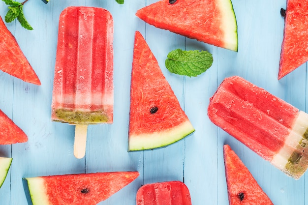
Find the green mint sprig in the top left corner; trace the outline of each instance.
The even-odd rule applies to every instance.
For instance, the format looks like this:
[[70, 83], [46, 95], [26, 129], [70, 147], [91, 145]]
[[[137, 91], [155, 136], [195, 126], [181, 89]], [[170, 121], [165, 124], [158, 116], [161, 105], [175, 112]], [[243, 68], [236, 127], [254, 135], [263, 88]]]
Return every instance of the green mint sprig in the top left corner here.
[[6, 23], [10, 23], [17, 18], [22, 27], [28, 30], [33, 30], [33, 28], [27, 22], [23, 12], [24, 3], [26, 3], [27, 0], [25, 0], [22, 3], [13, 0], [2, 0], [2, 1], [4, 1], [6, 5], [9, 5], [8, 11], [4, 17]]

